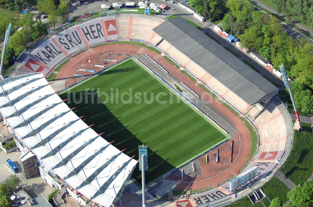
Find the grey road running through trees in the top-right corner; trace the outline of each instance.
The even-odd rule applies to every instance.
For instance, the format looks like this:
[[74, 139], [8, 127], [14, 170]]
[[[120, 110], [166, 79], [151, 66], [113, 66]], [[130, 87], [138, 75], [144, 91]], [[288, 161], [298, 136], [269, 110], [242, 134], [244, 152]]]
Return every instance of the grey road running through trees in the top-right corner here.
[[[264, 4], [263, 2], [260, 2], [260, 1], [258, 1], [258, 0], [249, 0], [249, 1], [250, 1], [250, 2], [255, 2], [255, 3], [257, 3], [260, 7], [263, 7], [263, 8], [265, 8], [265, 9], [269, 10], [270, 12], [273, 12], [273, 13], [275, 13], [275, 14], [278, 14], [278, 15], [280, 15], [281, 17], [283, 17], [284, 19], [286, 19], [286, 17], [285, 17], [284, 14], [280, 14], [280, 13], [276, 12], [276, 10], [275, 10], [274, 8], [269, 7], [268, 5]], [[299, 30], [293, 28], [292, 26], [289, 26], [289, 25], [286, 24], [285, 22], [282, 22], [282, 21], [280, 21], [280, 20], [278, 20], [278, 21], [283, 25], [285, 31], [286, 31], [289, 35], [293, 36], [295, 39], [297, 39], [297, 38], [306, 38], [306, 39], [308, 39], [308, 40], [310, 41], [311, 44], [313, 44], [313, 40], [312, 40], [311, 38], [309, 38], [308, 36], [306, 36], [305, 34], [303, 34], [301, 31], [299, 31]], [[293, 22], [293, 24], [295, 24], [296, 26], [300, 27], [301, 29], [303, 29], [303, 30], [309, 32], [311, 35], [313, 35], [313, 31], [310, 30], [307, 26], [304, 26], [304, 25], [302, 25], [302, 24], [300, 24], [300, 23], [296, 23], [296, 22]]]

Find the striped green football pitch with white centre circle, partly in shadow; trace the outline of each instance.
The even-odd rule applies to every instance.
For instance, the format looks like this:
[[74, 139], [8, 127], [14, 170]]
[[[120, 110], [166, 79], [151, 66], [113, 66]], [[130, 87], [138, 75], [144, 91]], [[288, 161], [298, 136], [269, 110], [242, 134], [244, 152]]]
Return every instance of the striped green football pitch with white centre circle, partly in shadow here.
[[[88, 125], [129, 156], [148, 146], [150, 182], [229, 136], [133, 58], [60, 94]], [[86, 94], [85, 91], [91, 92]], [[75, 99], [75, 100], [74, 100]], [[80, 103], [81, 102], [81, 103]], [[133, 176], [141, 179], [137, 169]]]

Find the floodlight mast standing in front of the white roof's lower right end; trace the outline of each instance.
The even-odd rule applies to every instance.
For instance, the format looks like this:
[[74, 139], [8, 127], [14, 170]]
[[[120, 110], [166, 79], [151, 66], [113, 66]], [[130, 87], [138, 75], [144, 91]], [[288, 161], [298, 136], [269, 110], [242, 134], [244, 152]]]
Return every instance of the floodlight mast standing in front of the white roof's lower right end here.
[[141, 171], [142, 182], [142, 207], [146, 207], [145, 171], [148, 171], [148, 148], [145, 145], [139, 145], [139, 170]]

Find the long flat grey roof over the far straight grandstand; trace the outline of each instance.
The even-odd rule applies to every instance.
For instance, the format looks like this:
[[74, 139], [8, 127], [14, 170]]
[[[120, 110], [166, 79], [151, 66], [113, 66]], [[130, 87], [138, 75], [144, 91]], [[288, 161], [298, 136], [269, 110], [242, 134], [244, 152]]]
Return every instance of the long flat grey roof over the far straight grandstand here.
[[250, 105], [269, 100], [278, 88], [182, 17], [153, 29]]

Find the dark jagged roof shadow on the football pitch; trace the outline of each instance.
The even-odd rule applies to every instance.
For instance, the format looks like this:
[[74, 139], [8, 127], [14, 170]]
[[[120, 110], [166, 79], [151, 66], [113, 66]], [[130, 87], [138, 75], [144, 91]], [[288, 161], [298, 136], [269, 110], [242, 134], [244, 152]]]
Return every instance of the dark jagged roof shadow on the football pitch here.
[[[128, 68], [127, 70], [132, 70], [131, 68]], [[105, 74], [108, 74], [107, 71]], [[116, 72], [116, 70], [114, 71]], [[121, 71], [120, 71], [121, 72]], [[87, 124], [95, 124], [92, 128], [97, 132], [98, 134], [105, 132], [102, 137], [105, 138], [106, 141], [111, 142], [115, 140], [113, 145], [118, 148], [119, 150], [123, 150], [126, 148], [126, 151], [124, 153], [128, 156], [136, 155], [134, 159], [138, 160], [138, 145], [149, 145], [149, 142], [142, 142], [140, 141], [137, 136], [138, 134], [132, 134], [128, 130], [128, 125], [125, 123], [122, 123], [119, 118], [121, 117], [115, 117], [111, 110], [113, 108], [107, 108], [105, 104], [103, 104], [103, 99], [105, 99], [104, 96], [99, 97], [98, 95], [90, 95], [96, 94], [95, 90], [89, 90], [89, 95], [85, 96], [84, 99], [78, 99], [76, 97], [76, 103], [73, 101], [74, 93], [70, 93], [70, 101], [67, 102], [67, 105], [69, 108], [77, 107], [76, 110], [74, 110], [74, 113], [77, 116], [85, 116], [82, 120]], [[85, 91], [82, 92], [76, 92], [79, 94], [84, 94]], [[69, 97], [69, 94], [59, 94], [61, 99], [67, 99]], [[81, 100], [81, 103], [78, 103], [77, 101]], [[159, 156], [156, 152], [152, 152], [148, 148], [148, 171], [146, 172], [146, 183], [156, 179], [159, 176], [162, 176], [166, 172], [174, 169], [174, 166], [169, 164], [167, 160], [164, 160], [161, 156]], [[141, 183], [141, 172], [137, 169], [133, 172], [133, 177]]]

